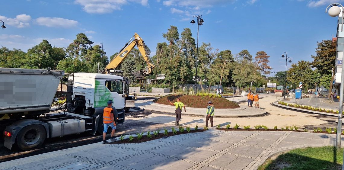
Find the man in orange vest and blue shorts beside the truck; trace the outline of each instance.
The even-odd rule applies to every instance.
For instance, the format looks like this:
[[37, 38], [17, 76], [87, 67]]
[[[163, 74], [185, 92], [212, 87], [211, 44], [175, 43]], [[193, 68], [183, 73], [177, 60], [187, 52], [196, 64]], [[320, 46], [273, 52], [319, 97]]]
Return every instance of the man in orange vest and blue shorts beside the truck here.
[[111, 100], [108, 101], [108, 106], [104, 108], [103, 113], [103, 123], [104, 123], [104, 130], [103, 130], [103, 144], [109, 143], [106, 138], [106, 132], [109, 127], [112, 128], [110, 140], [117, 140], [114, 135], [116, 131], [116, 123], [114, 119], [114, 109], [112, 109], [112, 102]]

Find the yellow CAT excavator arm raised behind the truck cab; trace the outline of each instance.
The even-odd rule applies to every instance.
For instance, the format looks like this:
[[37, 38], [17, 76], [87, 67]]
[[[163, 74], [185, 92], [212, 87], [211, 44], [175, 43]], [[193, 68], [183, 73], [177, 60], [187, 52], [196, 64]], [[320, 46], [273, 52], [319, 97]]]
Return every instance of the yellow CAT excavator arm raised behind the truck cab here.
[[[133, 38], [135, 38], [133, 41], [131, 41]], [[130, 42], [131, 41], [131, 42]], [[129, 43], [130, 42], [130, 43]], [[146, 44], [144, 44], [142, 38], [135, 33], [134, 36], [127, 42], [126, 45], [123, 46], [123, 48], [120, 50], [120, 52], [112, 59], [109, 64], [105, 67], [102, 73], [105, 74], [114, 74], [116, 72], [116, 68], [118, 67], [119, 64], [122, 63], [122, 61], [128, 56], [130, 51], [137, 46], [140, 53], [143, 56], [144, 61], [146, 61], [146, 68], [145, 70], [133, 72], [133, 74], [138, 77], [144, 77], [152, 73], [152, 69], [154, 68], [154, 63], [149, 56], [149, 51], [147, 50]]]

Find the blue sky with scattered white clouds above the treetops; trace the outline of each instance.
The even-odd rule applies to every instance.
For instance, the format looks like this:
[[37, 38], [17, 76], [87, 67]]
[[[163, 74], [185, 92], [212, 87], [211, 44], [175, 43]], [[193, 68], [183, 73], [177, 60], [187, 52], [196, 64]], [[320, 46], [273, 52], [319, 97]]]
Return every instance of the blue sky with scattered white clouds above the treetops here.
[[312, 61], [316, 42], [336, 36], [337, 19], [325, 13], [334, 2], [344, 0], [2, 1], [0, 20], [7, 28], [0, 30], [0, 45], [26, 52], [46, 39], [52, 46], [67, 47], [76, 34], [85, 33], [94, 45], [103, 43], [111, 56], [137, 32], [153, 56], [170, 25], [179, 33], [190, 28], [196, 39], [197, 24], [190, 21], [201, 14], [205, 22], [199, 44], [233, 54], [265, 51], [278, 72], [285, 70], [283, 52], [292, 63]]

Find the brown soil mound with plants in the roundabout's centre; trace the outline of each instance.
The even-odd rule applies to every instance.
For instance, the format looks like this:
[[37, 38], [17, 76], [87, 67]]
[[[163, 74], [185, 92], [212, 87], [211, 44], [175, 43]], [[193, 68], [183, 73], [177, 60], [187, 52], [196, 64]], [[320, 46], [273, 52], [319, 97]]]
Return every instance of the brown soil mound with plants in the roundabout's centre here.
[[240, 107], [234, 102], [231, 102], [222, 97], [209, 97], [209, 96], [193, 96], [193, 95], [167, 95], [153, 100], [155, 103], [171, 105], [167, 100], [170, 100], [172, 103], [177, 101], [177, 98], [180, 98], [181, 102], [184, 103], [187, 107], [197, 107], [197, 108], [206, 108], [208, 106], [208, 101], [211, 100], [217, 109], [232, 109]]

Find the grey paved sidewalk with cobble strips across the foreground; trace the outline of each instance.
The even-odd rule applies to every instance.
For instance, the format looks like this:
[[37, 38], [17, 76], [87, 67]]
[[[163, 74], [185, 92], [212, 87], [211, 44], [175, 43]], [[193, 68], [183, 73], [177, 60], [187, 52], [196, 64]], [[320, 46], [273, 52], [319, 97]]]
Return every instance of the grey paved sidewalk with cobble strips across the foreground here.
[[[136, 144], [90, 144], [0, 163], [16, 169], [255, 170], [283, 150], [334, 145], [335, 135], [291, 131], [222, 131]], [[343, 142], [342, 142], [343, 144]]]

